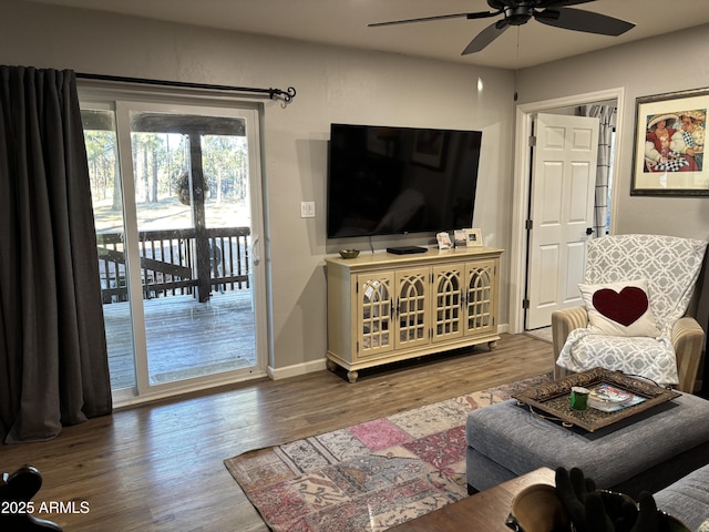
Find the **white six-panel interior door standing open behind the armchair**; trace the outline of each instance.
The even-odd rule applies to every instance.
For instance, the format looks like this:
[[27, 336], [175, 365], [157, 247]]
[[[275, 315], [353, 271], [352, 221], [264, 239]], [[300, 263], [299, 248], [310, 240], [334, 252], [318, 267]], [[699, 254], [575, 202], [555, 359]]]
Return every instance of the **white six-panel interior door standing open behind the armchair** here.
[[593, 228], [598, 119], [538, 114], [535, 121], [525, 328], [580, 304], [578, 283]]

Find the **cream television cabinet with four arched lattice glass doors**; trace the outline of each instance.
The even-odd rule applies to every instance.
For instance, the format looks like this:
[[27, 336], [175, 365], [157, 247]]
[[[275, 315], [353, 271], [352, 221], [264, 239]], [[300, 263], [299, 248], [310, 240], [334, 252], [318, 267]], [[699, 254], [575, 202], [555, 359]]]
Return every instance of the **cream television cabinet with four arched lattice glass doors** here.
[[496, 347], [502, 249], [463, 247], [326, 258], [328, 369], [358, 370], [487, 344]]

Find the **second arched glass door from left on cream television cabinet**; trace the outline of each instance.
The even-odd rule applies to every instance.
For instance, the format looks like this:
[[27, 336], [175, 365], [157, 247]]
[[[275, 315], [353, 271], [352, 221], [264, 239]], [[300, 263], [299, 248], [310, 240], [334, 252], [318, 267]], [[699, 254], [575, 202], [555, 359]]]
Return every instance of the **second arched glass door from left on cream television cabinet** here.
[[429, 342], [428, 268], [397, 273], [397, 348]]

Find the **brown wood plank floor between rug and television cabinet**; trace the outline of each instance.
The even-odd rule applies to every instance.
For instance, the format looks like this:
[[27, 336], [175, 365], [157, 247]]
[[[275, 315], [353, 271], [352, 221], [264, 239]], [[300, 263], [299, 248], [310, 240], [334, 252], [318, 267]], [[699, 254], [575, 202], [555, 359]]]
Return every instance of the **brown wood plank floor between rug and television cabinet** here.
[[34, 503], [88, 501], [88, 513], [39, 514], [79, 531], [267, 531], [223, 460], [553, 369], [551, 344], [503, 335], [477, 347], [350, 385], [330, 371], [234, 385], [68, 427], [54, 440], [0, 447], [2, 471], [25, 463]]

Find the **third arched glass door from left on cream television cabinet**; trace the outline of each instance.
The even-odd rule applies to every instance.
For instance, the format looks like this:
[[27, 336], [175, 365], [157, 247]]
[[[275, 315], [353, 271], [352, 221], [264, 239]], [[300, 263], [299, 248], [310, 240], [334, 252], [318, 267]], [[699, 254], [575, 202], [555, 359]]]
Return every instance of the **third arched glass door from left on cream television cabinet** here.
[[433, 339], [459, 338], [463, 336], [463, 279], [462, 265], [434, 268]]

